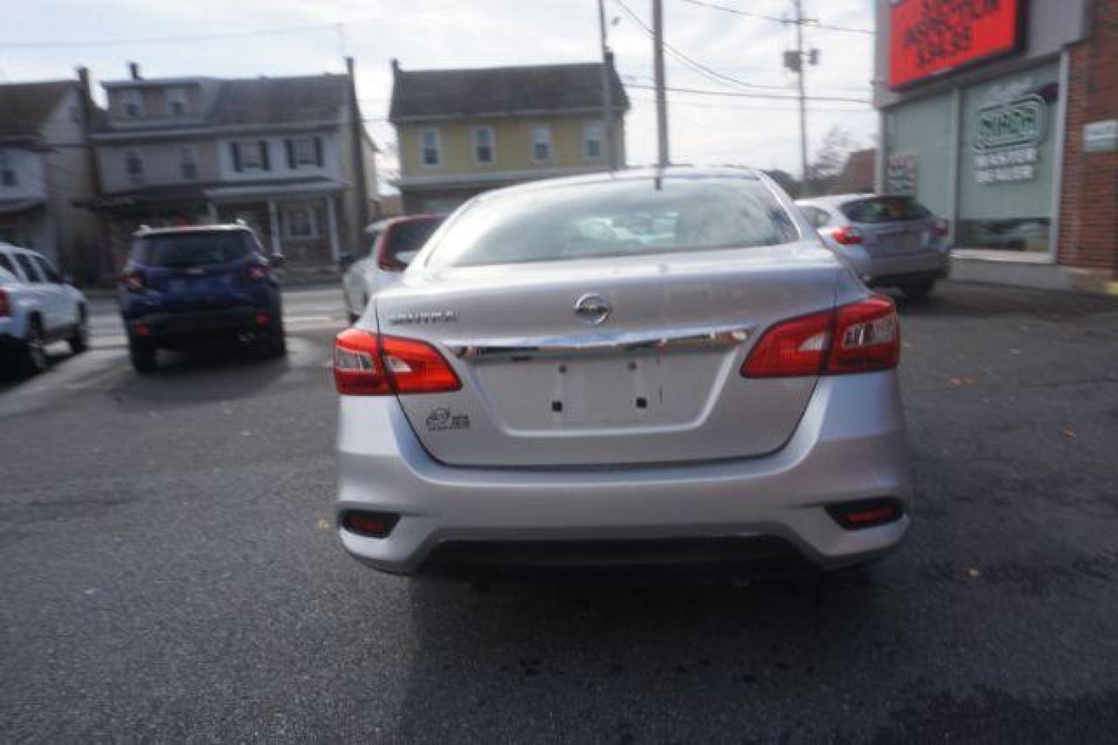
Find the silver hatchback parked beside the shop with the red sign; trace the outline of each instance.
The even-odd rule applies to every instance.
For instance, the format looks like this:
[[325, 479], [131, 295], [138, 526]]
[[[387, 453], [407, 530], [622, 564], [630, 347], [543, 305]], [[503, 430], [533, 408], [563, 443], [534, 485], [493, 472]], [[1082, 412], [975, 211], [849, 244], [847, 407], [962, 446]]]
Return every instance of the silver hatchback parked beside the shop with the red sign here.
[[868, 284], [921, 298], [950, 273], [947, 221], [911, 197], [842, 194], [796, 204]]

